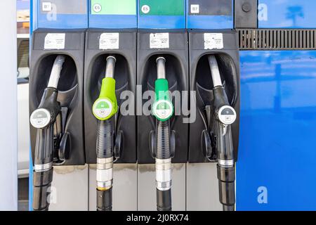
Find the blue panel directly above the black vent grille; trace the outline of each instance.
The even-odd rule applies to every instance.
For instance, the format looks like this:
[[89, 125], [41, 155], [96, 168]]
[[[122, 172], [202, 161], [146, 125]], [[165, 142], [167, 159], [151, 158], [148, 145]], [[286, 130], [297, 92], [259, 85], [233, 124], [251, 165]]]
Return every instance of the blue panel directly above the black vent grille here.
[[259, 0], [259, 28], [315, 28], [315, 0]]

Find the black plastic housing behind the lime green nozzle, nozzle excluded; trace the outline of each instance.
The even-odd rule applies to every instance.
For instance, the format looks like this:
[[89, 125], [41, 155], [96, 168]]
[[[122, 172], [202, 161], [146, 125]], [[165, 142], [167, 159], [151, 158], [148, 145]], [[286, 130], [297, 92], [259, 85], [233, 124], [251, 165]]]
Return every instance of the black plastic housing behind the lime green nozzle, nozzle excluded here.
[[[119, 49], [102, 50], [99, 47], [100, 35], [119, 33]], [[120, 106], [125, 100], [120, 99], [122, 91], [133, 92], [136, 96], [136, 37], [137, 30], [88, 29], [86, 32], [86, 58], [84, 76], [84, 130], [86, 163], [96, 163], [96, 140], [98, 120], [92, 113], [93, 103], [100, 94], [101, 82], [105, 77], [107, 56], [117, 59], [114, 71], [116, 80], [117, 102]], [[135, 98], [129, 98], [135, 106]], [[132, 115], [119, 115], [117, 131], [122, 131], [123, 143], [118, 163], [135, 163], [136, 153], [136, 110]]]

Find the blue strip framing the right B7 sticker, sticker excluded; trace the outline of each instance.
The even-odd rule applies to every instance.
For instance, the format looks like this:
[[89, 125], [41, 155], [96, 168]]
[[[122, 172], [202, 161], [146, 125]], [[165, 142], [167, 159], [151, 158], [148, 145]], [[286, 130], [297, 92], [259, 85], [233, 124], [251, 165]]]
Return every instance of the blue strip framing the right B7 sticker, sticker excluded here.
[[[231, 15], [201, 15], [190, 14], [191, 12], [191, 1], [187, 0], [187, 29], [232, 29], [234, 27], [233, 21], [233, 0], [225, 0], [226, 4], [228, 1], [231, 1]], [[197, 4], [197, 0], [192, 1], [193, 4]], [[220, 2], [219, 2], [220, 3]], [[218, 4], [218, 3], [216, 3]], [[211, 11], [212, 6], [209, 5], [209, 10]], [[230, 11], [228, 9], [227, 11]], [[210, 13], [211, 14], [211, 13]]]

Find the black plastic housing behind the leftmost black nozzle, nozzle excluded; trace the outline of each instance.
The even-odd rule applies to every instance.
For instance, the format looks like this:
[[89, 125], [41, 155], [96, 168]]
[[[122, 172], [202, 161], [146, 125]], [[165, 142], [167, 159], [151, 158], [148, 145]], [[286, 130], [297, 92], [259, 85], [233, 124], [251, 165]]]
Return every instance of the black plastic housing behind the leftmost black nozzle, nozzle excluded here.
[[[65, 49], [44, 49], [48, 33], [65, 33]], [[58, 83], [58, 101], [68, 108], [65, 132], [70, 134], [70, 155], [62, 165], [84, 165], [84, 127], [83, 127], [83, 80], [84, 80], [84, 41], [85, 30], [47, 30], [39, 29], [32, 34], [32, 47], [29, 75], [29, 113], [37, 109], [41, 96], [48, 85], [54, 60], [65, 55], [65, 63]], [[37, 129], [30, 125], [32, 156]]]

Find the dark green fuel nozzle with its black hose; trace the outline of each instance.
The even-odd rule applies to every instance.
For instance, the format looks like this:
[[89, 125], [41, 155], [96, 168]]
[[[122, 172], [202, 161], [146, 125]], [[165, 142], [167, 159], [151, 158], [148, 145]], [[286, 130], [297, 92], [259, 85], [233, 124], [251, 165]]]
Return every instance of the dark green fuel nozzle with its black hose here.
[[156, 130], [152, 141], [156, 167], [157, 210], [171, 211], [171, 158], [174, 148], [171, 146], [169, 119], [173, 115], [173, 104], [169, 98], [169, 84], [166, 79], [166, 59], [159, 57], [156, 63], [157, 79], [154, 85], [155, 100], [152, 105], [152, 113], [156, 117]]

